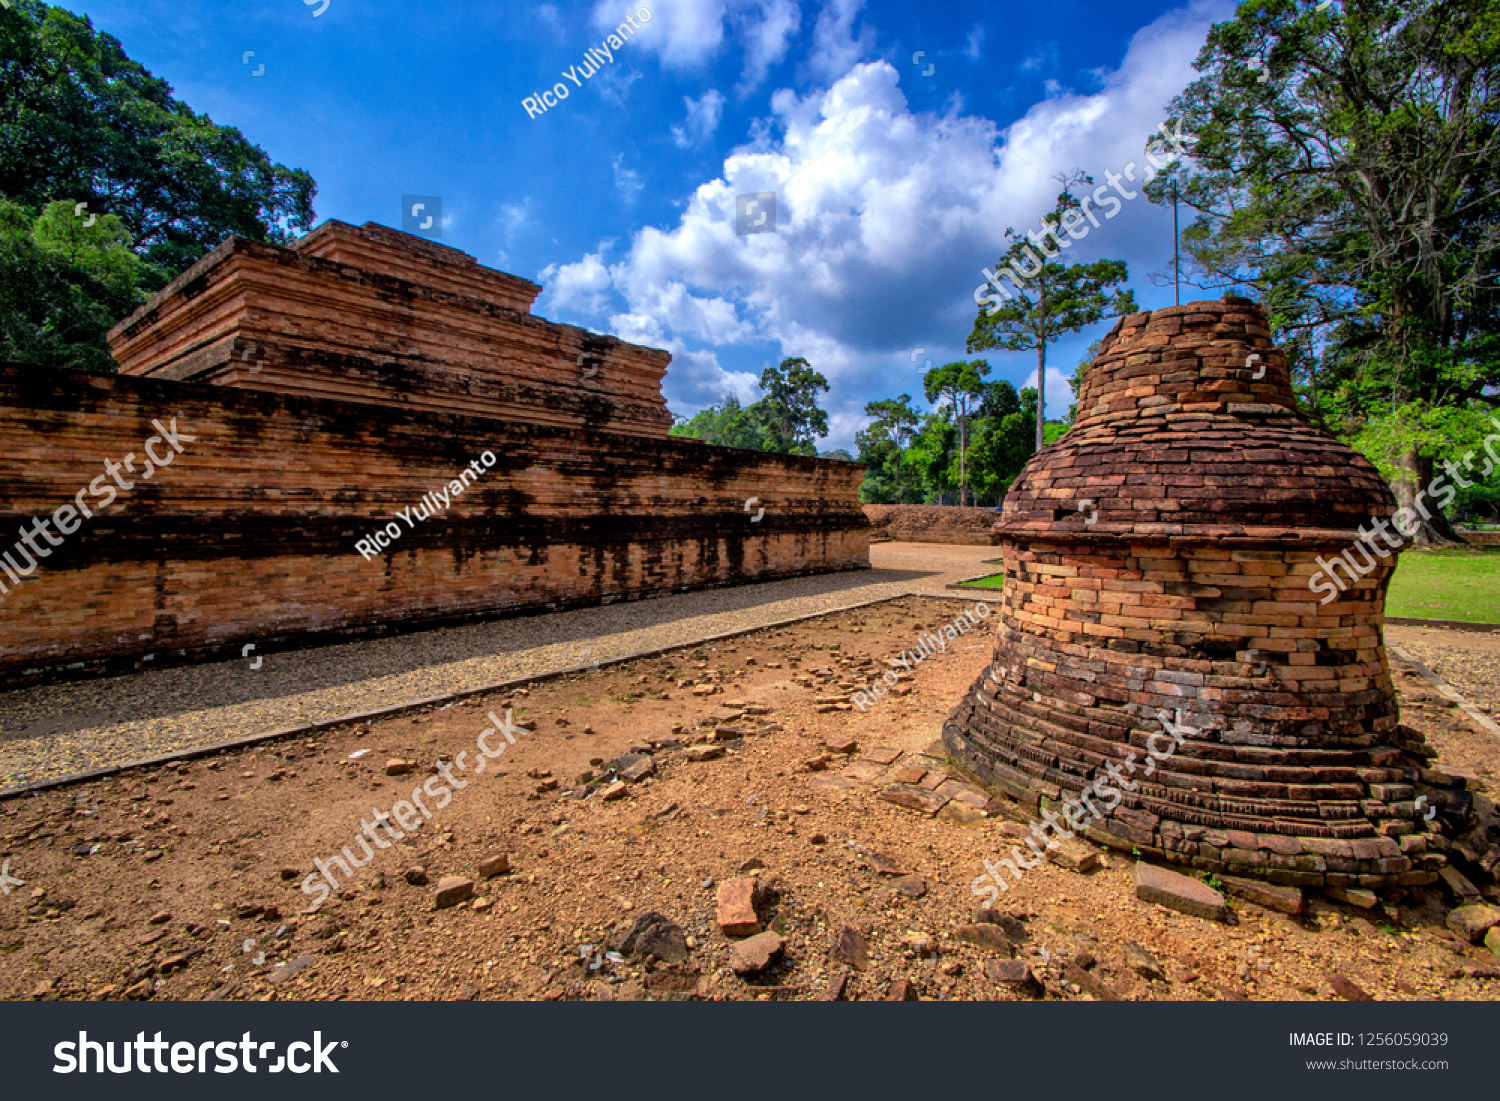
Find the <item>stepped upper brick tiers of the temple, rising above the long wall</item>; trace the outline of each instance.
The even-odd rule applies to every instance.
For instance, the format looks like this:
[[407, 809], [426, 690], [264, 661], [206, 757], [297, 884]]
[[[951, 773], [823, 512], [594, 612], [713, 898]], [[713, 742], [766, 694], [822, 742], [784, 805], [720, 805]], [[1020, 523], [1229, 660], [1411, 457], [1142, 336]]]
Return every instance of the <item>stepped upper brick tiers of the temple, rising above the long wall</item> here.
[[540, 286], [378, 225], [231, 237], [110, 333], [132, 375], [664, 438], [670, 356], [531, 316]]

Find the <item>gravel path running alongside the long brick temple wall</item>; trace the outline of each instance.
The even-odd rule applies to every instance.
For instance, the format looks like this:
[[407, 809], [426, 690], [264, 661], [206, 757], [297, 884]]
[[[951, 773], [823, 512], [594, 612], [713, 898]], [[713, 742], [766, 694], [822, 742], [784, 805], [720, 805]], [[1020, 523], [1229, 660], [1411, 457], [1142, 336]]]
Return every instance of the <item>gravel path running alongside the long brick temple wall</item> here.
[[264, 652], [260, 669], [248, 658], [0, 693], [0, 789], [908, 592], [951, 596], [946, 584], [999, 568], [982, 564], [998, 554], [878, 543], [872, 570]]

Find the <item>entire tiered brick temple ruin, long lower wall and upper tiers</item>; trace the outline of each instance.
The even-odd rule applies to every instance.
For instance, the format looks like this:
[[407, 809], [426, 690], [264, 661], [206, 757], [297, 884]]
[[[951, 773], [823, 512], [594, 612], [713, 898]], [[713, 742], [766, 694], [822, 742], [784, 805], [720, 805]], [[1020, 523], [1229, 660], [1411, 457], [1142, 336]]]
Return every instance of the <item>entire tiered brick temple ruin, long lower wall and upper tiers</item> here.
[[96, 508], [0, 574], [0, 678], [868, 567], [861, 465], [669, 436], [670, 356], [532, 316], [540, 291], [326, 222], [225, 240], [111, 332], [118, 375], [0, 364], [0, 526]]

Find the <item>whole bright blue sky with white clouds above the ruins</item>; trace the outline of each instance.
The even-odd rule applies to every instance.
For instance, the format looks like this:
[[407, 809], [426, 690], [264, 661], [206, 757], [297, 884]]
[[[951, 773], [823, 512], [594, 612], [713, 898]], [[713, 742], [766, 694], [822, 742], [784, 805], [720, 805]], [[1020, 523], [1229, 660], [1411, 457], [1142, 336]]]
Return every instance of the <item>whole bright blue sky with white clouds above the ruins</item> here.
[[[538, 315], [669, 350], [675, 412], [753, 400], [764, 366], [804, 356], [832, 386], [825, 450], [854, 450], [867, 400], [921, 404], [927, 360], [964, 357], [981, 268], [1008, 225], [1036, 228], [1052, 177], [1144, 165], [1209, 26], [1233, 14], [1228, 0], [322, 3], [70, 8], [194, 110], [312, 172], [318, 220], [399, 228], [404, 195], [441, 196], [442, 243], [543, 284]], [[627, 14], [639, 30], [584, 76]], [[566, 99], [526, 110], [555, 84]], [[777, 228], [740, 236], [735, 198], [756, 192], [776, 194]], [[1170, 212], [1144, 198], [1072, 255], [1125, 260], [1142, 308], [1172, 304], [1146, 278], [1168, 268]], [[1048, 351], [1050, 411], [1108, 324]], [[1034, 352], [986, 358], [992, 378], [1035, 384]]]

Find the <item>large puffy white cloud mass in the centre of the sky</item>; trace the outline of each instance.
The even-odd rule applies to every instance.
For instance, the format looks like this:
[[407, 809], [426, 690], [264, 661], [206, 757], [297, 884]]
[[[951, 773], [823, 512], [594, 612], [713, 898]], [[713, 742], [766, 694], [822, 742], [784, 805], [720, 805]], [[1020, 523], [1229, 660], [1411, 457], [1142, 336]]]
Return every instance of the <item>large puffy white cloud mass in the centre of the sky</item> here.
[[[658, 4], [664, 28], [669, 4]], [[708, 0], [687, 6], [724, 12]], [[644, 226], [618, 255], [603, 244], [543, 272], [548, 312], [576, 309], [674, 351], [666, 390], [678, 406], [716, 400], [714, 387], [717, 396], [754, 396], [744, 390], [752, 375], [718, 363], [735, 348], [741, 360], [766, 346], [806, 356], [832, 384], [825, 408], [837, 414], [837, 434], [819, 447], [852, 447], [866, 398], [920, 393], [914, 348], [962, 354], [980, 270], [994, 264], [1008, 225], [1034, 228], [1052, 208], [1056, 174], [1083, 168], [1102, 182], [1107, 170], [1144, 164], [1148, 135], [1196, 76], [1208, 27], [1230, 10], [1230, 0], [1194, 0], [1162, 15], [1131, 39], [1096, 92], [1058, 90], [1004, 130], [962, 114], [962, 100], [912, 111], [902, 74], [884, 60], [849, 62], [826, 90], [782, 88], [720, 172], [682, 196], [675, 222]], [[810, 64], [867, 50], [858, 14], [860, 0], [830, 0]], [[710, 32], [694, 34], [700, 48], [717, 48]], [[776, 231], [738, 236], [735, 198], [754, 192], [776, 194]], [[1170, 256], [1162, 219], [1144, 198], [1128, 201], [1074, 255], [1125, 258], [1138, 278]], [[1072, 362], [1056, 348], [1052, 356], [1066, 369], [1054, 378], [1048, 368], [1047, 404], [1064, 412]], [[992, 378], [1035, 378], [1034, 354], [1029, 363], [1028, 354], [986, 357]]]

